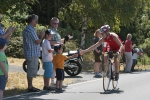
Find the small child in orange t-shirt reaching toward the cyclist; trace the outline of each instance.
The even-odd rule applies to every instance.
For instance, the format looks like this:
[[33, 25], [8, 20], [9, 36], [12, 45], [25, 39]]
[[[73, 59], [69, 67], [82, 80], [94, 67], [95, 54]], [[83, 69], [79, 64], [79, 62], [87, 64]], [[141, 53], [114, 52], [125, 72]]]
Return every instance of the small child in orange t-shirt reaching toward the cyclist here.
[[53, 56], [53, 64], [56, 70], [56, 91], [57, 92], [62, 92], [62, 83], [64, 80], [64, 62], [67, 59], [71, 59], [74, 57], [77, 57], [78, 54], [74, 54], [72, 56], [65, 56], [62, 55], [63, 47], [61, 44], [55, 44], [54, 45], [54, 50], [56, 54]]

